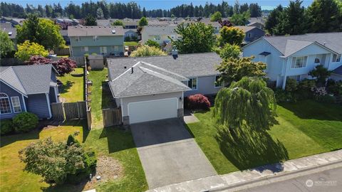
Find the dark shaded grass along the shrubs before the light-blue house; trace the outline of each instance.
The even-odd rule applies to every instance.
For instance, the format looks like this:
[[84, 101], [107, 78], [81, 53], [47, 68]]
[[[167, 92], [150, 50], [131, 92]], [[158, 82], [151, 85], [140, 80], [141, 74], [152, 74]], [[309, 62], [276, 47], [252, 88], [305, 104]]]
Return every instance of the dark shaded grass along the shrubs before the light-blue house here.
[[342, 106], [336, 104], [320, 103], [314, 100], [300, 102], [283, 102], [278, 104], [294, 113], [301, 119], [318, 119], [341, 121]]

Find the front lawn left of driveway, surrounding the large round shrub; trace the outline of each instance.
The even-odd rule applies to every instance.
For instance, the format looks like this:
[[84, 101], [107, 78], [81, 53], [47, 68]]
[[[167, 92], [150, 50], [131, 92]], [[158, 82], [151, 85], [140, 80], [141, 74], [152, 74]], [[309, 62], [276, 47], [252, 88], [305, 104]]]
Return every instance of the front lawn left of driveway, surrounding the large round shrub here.
[[47, 137], [52, 137], [55, 141], [64, 140], [73, 132], [80, 132], [78, 140], [93, 149], [98, 156], [112, 156], [123, 166], [122, 177], [98, 185], [97, 191], [146, 191], [145, 174], [130, 132], [113, 127], [88, 132], [82, 124], [74, 121], [60, 127], [43, 129], [41, 132], [1, 137], [0, 191], [82, 191], [81, 185], [48, 187], [47, 183], [41, 182], [40, 176], [22, 171], [24, 164], [19, 161], [18, 156], [18, 151], [31, 142]]

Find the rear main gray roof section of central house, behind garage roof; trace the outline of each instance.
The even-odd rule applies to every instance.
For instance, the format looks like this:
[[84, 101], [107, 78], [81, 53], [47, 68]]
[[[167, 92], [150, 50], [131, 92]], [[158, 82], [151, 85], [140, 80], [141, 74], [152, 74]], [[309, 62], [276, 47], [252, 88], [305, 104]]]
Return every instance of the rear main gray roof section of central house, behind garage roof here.
[[[108, 58], [110, 78], [114, 79], [139, 61], [150, 63], [185, 78], [219, 75], [217, 65], [222, 59], [216, 53], [180, 54], [177, 59], [171, 55], [141, 58]], [[170, 75], [169, 75], [170, 76]]]

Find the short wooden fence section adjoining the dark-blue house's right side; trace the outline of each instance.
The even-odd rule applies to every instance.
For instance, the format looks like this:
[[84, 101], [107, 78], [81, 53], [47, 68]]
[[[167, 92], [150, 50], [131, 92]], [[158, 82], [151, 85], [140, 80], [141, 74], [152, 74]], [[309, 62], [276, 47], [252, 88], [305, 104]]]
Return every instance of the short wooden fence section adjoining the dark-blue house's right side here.
[[64, 103], [66, 119], [85, 119], [87, 118], [86, 102], [66, 102]]

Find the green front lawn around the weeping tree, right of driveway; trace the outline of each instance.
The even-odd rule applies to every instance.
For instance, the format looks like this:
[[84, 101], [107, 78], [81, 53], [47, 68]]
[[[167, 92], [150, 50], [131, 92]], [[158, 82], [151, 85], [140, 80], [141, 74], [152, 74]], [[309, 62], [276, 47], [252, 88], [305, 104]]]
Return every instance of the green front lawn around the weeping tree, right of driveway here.
[[[306, 100], [278, 105], [277, 114], [278, 123], [262, 136], [262, 142], [251, 137], [253, 144], [231, 149], [217, 142], [212, 111], [197, 112], [200, 122], [187, 126], [219, 174], [342, 148], [341, 106]], [[262, 154], [266, 155], [260, 158]]]

